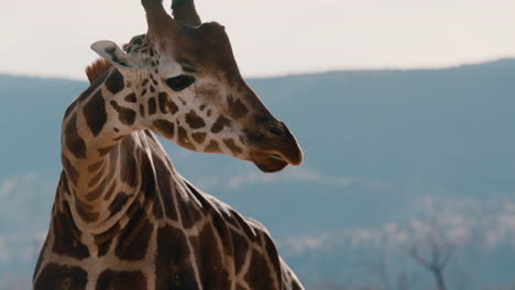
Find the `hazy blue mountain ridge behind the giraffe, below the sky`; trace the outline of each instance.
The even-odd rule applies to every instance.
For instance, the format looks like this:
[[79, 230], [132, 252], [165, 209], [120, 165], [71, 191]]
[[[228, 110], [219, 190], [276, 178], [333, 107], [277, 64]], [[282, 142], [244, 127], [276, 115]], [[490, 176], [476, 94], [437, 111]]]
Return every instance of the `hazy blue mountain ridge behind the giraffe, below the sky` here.
[[[470, 234], [450, 271], [462, 267], [475, 277], [467, 289], [513, 280], [515, 59], [249, 83], [297, 136], [302, 167], [263, 175], [231, 157], [163, 145], [194, 185], [262, 221], [308, 285], [366, 282], [373, 278], [366, 263], [381, 252], [374, 236], [394, 227], [395, 236], [410, 236], [413, 221], [427, 216]], [[61, 120], [87, 86], [0, 75], [1, 289], [12, 277], [30, 280], [61, 170]], [[352, 246], [358, 237], [362, 243]], [[392, 263], [392, 271], [405, 263]]]

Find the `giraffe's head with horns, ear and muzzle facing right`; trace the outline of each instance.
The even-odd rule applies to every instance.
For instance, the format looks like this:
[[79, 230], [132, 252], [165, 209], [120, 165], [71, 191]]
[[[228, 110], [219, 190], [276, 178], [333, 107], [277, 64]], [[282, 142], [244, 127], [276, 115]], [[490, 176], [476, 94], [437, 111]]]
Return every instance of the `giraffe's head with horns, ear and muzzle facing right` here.
[[201, 23], [193, 0], [142, 0], [149, 30], [122, 51], [91, 47], [123, 76], [144, 126], [178, 145], [253, 161], [272, 172], [299, 165], [303, 153], [240, 75], [224, 27]]

